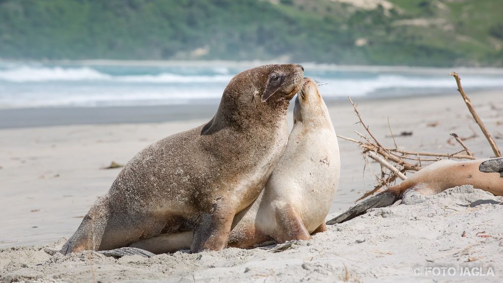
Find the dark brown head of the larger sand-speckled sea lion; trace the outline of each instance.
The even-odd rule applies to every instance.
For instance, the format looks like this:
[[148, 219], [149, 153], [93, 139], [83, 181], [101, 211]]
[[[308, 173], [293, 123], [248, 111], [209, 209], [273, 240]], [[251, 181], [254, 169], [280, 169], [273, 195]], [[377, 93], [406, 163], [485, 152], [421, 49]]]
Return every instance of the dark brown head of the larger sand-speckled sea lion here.
[[227, 84], [214, 121], [219, 124], [274, 124], [286, 117], [289, 101], [303, 82], [304, 67], [272, 64], [251, 68], [235, 75]]

